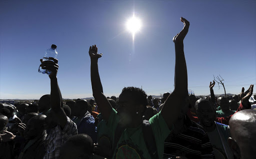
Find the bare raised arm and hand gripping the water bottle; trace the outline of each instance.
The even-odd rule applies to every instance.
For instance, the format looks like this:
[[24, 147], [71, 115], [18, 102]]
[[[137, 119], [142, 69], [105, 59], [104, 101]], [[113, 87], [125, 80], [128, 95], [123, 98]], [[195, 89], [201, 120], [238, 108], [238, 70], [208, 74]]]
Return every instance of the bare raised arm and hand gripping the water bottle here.
[[58, 60], [52, 57], [49, 57], [50, 60], [53, 61], [41, 61], [41, 67], [42, 69], [50, 70], [51, 73], [49, 74], [50, 78], [50, 107], [51, 111], [53, 111], [54, 115], [56, 116], [57, 123], [60, 125], [60, 127], [63, 129], [67, 118], [66, 114], [61, 109], [63, 106], [61, 93], [58, 87], [57, 82], [57, 71], [58, 71]]

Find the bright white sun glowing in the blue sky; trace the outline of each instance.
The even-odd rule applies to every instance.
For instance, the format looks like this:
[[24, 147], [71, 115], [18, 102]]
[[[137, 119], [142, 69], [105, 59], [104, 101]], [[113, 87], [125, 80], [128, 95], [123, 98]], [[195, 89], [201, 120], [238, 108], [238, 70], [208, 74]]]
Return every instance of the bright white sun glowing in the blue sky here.
[[141, 21], [139, 18], [135, 17], [134, 14], [126, 22], [126, 29], [131, 32], [132, 38], [134, 40], [135, 33], [140, 31]]

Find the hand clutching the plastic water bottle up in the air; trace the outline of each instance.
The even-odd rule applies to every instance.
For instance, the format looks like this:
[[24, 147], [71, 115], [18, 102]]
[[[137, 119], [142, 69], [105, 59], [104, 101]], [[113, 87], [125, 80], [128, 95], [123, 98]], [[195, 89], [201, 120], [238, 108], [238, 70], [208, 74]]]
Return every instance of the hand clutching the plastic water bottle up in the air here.
[[58, 72], [58, 60], [53, 57], [49, 57], [49, 59], [52, 61], [42, 61], [42, 59], [40, 59], [40, 66], [42, 67], [42, 69], [51, 71], [51, 73], [49, 74], [50, 79], [56, 78]]

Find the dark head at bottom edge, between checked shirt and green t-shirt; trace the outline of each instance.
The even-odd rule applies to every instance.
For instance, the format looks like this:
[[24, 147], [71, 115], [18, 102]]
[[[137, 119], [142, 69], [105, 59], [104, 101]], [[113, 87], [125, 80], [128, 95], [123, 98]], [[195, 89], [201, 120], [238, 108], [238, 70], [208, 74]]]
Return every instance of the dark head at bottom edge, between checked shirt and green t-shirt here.
[[92, 159], [93, 142], [86, 134], [69, 138], [60, 149], [60, 159]]

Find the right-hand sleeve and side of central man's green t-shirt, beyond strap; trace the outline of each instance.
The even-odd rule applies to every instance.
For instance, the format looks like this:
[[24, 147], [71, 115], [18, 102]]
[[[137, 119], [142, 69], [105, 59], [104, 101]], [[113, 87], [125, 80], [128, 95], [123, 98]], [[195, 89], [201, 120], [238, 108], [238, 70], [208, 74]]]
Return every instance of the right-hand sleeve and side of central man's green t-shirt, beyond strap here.
[[169, 135], [170, 130], [165, 123], [161, 112], [150, 118], [149, 123], [154, 134], [155, 144], [157, 145], [158, 157], [161, 159], [163, 155], [163, 142]]

